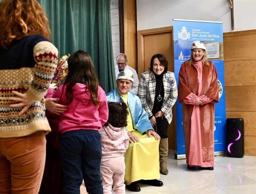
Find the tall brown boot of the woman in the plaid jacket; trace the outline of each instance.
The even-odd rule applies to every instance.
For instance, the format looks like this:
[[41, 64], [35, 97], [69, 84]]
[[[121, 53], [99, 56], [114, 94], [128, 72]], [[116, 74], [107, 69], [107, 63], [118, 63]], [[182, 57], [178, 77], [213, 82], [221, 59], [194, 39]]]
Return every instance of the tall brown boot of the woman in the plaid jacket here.
[[160, 139], [159, 144], [159, 161], [160, 161], [160, 172], [161, 174], [167, 175], [168, 169], [166, 166], [168, 156], [168, 138]]

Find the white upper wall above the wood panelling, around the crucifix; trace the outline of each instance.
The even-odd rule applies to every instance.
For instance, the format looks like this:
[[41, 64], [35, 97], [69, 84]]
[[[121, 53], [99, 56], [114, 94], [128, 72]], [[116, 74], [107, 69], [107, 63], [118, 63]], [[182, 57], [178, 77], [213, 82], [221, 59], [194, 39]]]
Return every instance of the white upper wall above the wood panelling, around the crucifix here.
[[227, 0], [137, 0], [137, 30], [173, 25], [173, 19], [222, 21], [223, 32], [256, 29], [256, 0], [234, 0], [234, 30]]

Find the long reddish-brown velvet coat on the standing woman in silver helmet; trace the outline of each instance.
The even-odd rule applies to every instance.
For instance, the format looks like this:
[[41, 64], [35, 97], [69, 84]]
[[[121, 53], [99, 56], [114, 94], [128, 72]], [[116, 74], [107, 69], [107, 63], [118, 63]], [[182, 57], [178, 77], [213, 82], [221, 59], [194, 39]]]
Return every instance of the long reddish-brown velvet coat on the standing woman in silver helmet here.
[[[200, 105], [200, 132], [203, 161], [214, 160], [214, 103], [219, 102], [219, 89], [217, 71], [213, 62], [202, 65], [202, 91], [201, 95], [213, 99], [210, 103]], [[181, 64], [178, 82], [178, 102], [182, 102], [190, 93], [198, 95], [198, 74], [194, 64], [187, 62]], [[186, 158], [189, 158], [191, 115], [194, 105], [182, 104], [183, 129], [186, 147]], [[192, 121], [193, 122], [193, 121]]]

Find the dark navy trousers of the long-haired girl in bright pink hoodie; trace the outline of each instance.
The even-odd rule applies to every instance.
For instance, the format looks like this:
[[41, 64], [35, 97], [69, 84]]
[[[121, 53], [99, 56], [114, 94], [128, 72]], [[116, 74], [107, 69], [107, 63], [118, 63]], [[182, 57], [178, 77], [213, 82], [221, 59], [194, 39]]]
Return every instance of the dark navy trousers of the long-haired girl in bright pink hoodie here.
[[101, 135], [98, 130], [72, 130], [60, 136], [64, 194], [80, 194], [83, 179], [87, 193], [103, 194], [101, 155]]

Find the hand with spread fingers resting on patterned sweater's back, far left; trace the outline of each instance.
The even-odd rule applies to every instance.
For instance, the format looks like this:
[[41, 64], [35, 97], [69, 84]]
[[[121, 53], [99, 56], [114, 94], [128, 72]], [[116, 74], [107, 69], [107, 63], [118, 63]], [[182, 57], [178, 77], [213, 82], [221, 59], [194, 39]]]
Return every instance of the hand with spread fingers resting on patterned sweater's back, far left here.
[[20, 93], [17, 91], [12, 91], [17, 97], [9, 97], [10, 101], [16, 101], [16, 104], [10, 105], [10, 108], [21, 108], [23, 109], [18, 113], [19, 116], [23, 115], [29, 107], [35, 102], [32, 98], [30, 98], [27, 93]]

